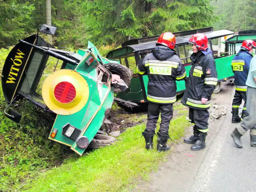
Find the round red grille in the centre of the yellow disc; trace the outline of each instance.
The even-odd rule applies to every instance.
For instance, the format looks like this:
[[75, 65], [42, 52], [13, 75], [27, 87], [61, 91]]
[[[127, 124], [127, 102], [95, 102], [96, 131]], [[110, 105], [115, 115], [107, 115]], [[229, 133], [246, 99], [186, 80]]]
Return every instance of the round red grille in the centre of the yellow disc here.
[[70, 82], [60, 82], [54, 88], [54, 96], [61, 103], [70, 103], [76, 97], [76, 88]]

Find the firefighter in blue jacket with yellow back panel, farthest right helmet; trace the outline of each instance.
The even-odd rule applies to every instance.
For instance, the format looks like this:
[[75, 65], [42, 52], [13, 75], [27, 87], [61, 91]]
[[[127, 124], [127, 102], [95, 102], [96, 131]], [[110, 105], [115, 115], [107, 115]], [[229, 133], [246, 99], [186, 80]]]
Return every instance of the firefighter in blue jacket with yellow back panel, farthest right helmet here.
[[[240, 51], [236, 54], [231, 63], [236, 85], [236, 92], [232, 102], [232, 123], [239, 123], [244, 117], [248, 116], [246, 112], [246, 79], [252, 60], [253, 48], [255, 47], [256, 43], [253, 40], [245, 40], [242, 43]], [[240, 118], [238, 113], [242, 99], [244, 100], [244, 108]]]

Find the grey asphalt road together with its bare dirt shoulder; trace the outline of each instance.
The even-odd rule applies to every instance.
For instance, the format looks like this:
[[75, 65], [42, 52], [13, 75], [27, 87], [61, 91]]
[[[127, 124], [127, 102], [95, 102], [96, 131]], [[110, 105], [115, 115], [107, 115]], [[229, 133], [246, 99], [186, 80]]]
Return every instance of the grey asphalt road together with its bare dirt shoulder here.
[[[234, 86], [222, 84], [212, 103], [231, 109]], [[209, 120], [206, 149], [191, 151], [190, 144], [172, 146], [167, 162], [150, 174], [149, 182], [138, 182], [133, 192], [256, 192], [256, 148], [250, 146], [249, 132], [244, 147], [236, 148], [230, 136], [236, 124], [232, 114]], [[188, 129], [187, 136], [192, 134]]]

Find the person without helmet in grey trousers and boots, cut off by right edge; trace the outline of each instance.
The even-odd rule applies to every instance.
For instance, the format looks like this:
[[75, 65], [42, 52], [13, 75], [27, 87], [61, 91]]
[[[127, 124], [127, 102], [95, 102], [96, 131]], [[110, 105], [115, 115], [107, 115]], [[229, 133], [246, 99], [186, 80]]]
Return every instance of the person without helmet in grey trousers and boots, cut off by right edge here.
[[246, 90], [248, 116], [246, 116], [231, 133], [234, 143], [239, 148], [242, 148], [242, 142], [240, 140], [241, 136], [249, 129], [250, 145], [256, 147], [256, 57], [252, 58], [250, 62], [246, 85], [248, 86]]

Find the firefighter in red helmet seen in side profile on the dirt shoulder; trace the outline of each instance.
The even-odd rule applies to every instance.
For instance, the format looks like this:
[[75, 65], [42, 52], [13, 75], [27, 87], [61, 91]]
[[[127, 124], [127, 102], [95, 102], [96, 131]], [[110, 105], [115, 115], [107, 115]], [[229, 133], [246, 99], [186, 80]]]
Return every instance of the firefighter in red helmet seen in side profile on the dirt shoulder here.
[[189, 118], [194, 124], [194, 135], [184, 139], [185, 143], [194, 144], [191, 150], [205, 148], [205, 138], [208, 132], [208, 109], [211, 96], [218, 83], [215, 61], [208, 48], [208, 38], [205, 34], [193, 35], [189, 42], [193, 54], [190, 56], [192, 66], [182, 104], [189, 107]]

